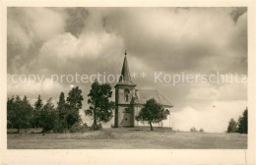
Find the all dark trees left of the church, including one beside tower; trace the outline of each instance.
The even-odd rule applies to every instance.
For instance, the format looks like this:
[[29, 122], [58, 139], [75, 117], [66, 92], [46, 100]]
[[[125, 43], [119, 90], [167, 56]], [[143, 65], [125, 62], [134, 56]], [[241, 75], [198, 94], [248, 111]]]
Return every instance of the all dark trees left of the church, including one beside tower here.
[[[108, 83], [92, 84], [88, 94], [89, 109], [85, 110], [87, 116], [92, 117], [93, 130], [98, 129], [96, 121], [108, 122], [113, 114], [114, 102], [110, 101], [112, 96], [111, 86]], [[7, 127], [18, 129], [41, 128], [42, 133], [63, 133], [70, 130], [74, 125], [82, 123], [79, 111], [83, 107], [84, 97], [79, 86], [73, 87], [65, 98], [62, 91], [59, 95], [57, 107], [54, 106], [52, 98], [44, 104], [40, 94], [33, 105], [25, 95], [21, 98], [8, 97], [7, 100]]]

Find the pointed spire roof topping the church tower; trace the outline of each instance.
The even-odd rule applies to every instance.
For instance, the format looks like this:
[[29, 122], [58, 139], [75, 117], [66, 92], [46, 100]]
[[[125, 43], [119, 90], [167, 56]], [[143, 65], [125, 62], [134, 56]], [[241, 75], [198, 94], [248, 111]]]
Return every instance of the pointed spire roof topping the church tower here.
[[125, 50], [124, 53], [124, 61], [123, 61], [123, 67], [122, 67], [122, 72], [121, 72], [121, 77], [119, 79], [119, 82], [116, 85], [136, 85], [135, 83], [132, 82], [130, 72], [129, 72], [129, 66], [128, 66], [128, 61], [127, 61], [127, 53]]

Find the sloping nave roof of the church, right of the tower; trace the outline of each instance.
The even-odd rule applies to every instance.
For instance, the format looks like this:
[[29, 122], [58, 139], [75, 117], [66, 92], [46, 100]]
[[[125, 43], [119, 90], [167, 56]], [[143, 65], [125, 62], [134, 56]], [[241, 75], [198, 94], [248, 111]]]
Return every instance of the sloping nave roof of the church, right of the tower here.
[[136, 89], [136, 104], [145, 104], [147, 100], [155, 98], [163, 106], [173, 107], [173, 105], [157, 89]]

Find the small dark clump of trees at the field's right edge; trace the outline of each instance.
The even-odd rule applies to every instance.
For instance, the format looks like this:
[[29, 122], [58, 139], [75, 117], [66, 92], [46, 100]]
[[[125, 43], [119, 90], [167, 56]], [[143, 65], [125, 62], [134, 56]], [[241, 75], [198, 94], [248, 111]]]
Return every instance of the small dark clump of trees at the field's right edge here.
[[233, 118], [230, 119], [227, 127], [227, 133], [248, 134], [248, 108], [243, 111], [236, 122]]

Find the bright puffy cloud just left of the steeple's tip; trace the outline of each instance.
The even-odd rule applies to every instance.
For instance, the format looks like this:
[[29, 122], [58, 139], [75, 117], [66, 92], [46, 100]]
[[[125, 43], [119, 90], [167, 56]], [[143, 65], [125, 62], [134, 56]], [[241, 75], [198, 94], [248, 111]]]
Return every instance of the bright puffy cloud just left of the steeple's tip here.
[[[39, 49], [38, 58], [32, 66], [51, 71], [64, 72], [90, 72], [92, 63], [112, 63], [117, 50], [122, 48], [122, 40], [113, 34], [106, 32], [82, 33], [79, 38], [69, 32], [62, 33], [47, 42]], [[100, 59], [101, 58], [101, 59]], [[52, 60], [54, 59], [54, 60]], [[58, 61], [58, 63], [56, 63]], [[83, 62], [84, 67], [78, 66], [78, 61]], [[37, 65], [35, 65], [37, 64]], [[69, 66], [70, 71], [66, 68]], [[100, 67], [100, 66], [98, 66]]]

